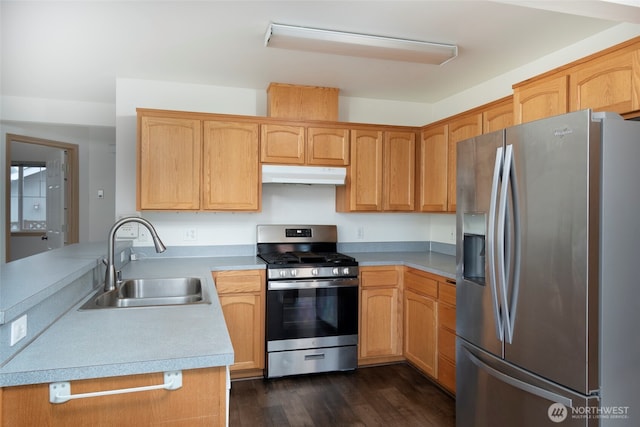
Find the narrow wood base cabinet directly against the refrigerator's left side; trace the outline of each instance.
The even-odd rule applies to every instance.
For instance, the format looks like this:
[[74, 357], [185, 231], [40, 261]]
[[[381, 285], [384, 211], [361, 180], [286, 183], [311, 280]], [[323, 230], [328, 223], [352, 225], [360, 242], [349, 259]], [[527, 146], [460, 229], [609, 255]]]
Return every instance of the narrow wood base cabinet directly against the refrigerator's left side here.
[[456, 391], [456, 287], [438, 280], [438, 382]]

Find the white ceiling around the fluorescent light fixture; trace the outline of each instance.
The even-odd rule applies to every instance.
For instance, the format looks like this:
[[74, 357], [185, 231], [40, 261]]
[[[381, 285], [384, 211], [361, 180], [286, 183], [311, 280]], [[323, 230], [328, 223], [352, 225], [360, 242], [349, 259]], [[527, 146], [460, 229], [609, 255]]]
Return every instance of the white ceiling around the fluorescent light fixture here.
[[[116, 78], [433, 103], [620, 22], [640, 0], [1, 0], [2, 95], [115, 103]], [[563, 11], [568, 11], [565, 13]], [[443, 66], [264, 47], [270, 22], [455, 43]]]

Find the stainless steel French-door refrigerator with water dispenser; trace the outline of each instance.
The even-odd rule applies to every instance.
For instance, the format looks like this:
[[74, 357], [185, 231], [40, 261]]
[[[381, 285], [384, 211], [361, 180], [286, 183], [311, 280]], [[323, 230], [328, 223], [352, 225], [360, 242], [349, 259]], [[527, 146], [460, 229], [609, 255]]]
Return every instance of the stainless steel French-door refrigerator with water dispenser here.
[[640, 123], [457, 146], [456, 424], [640, 425]]

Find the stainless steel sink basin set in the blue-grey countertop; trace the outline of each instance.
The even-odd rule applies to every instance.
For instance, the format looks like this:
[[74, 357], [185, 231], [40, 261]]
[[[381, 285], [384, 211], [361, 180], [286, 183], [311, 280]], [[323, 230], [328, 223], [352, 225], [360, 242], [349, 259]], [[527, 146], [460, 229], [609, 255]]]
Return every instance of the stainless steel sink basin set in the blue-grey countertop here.
[[100, 290], [80, 309], [152, 307], [207, 303], [196, 277], [126, 279], [111, 292]]

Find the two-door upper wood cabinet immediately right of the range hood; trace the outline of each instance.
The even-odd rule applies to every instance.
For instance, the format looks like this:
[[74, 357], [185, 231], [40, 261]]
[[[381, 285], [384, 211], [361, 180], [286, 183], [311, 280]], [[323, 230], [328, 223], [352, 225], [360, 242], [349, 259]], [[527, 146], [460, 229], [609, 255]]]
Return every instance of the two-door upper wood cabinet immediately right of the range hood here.
[[339, 212], [412, 211], [415, 207], [415, 132], [351, 130], [351, 163], [336, 187]]

